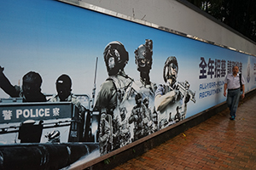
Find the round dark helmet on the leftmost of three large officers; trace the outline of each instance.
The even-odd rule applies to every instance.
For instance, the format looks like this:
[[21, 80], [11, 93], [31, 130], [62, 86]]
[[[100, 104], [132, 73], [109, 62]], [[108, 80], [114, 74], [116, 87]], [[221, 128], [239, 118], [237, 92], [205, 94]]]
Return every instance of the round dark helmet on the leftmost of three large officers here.
[[[129, 54], [125, 50], [125, 46], [118, 41], [109, 42], [104, 49], [103, 55], [109, 76], [113, 76], [117, 74], [119, 70], [123, 70], [129, 60]], [[114, 59], [114, 66], [113, 68], [109, 68], [108, 59], [112, 57]]]

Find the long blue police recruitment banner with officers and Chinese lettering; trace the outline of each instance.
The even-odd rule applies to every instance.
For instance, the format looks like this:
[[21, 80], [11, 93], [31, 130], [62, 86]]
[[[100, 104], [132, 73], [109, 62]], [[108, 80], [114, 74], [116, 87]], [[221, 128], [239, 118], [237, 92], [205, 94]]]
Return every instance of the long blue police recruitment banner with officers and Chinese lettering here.
[[256, 88], [255, 57], [108, 14], [24, 0], [2, 1], [0, 18], [1, 144], [22, 143], [27, 123], [42, 143], [93, 142], [96, 158], [224, 102], [234, 65]]

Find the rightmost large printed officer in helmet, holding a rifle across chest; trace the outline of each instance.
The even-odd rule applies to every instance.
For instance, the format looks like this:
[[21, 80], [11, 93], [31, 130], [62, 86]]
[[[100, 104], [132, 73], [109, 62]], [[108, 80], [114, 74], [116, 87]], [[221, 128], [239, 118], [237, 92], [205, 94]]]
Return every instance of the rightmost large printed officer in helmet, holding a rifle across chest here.
[[177, 108], [180, 113], [186, 115], [189, 94], [182, 95], [176, 86], [178, 65], [174, 56], [168, 57], [163, 70], [163, 78], [166, 84], [160, 84], [155, 92], [154, 105], [159, 113], [159, 127], [167, 127], [174, 123]]

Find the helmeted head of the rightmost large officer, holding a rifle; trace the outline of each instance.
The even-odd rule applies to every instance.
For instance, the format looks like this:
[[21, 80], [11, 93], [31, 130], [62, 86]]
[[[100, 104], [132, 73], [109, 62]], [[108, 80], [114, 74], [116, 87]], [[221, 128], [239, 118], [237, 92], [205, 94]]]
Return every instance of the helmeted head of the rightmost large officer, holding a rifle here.
[[167, 79], [172, 78], [172, 80], [176, 81], [177, 77], [173, 77], [173, 75], [170, 75], [169, 72], [171, 71], [171, 67], [175, 68], [178, 71], [178, 65], [177, 65], [177, 59], [174, 56], [168, 57], [166, 59], [166, 63], [164, 66], [164, 71], [163, 71], [163, 77], [164, 81], [167, 82]]

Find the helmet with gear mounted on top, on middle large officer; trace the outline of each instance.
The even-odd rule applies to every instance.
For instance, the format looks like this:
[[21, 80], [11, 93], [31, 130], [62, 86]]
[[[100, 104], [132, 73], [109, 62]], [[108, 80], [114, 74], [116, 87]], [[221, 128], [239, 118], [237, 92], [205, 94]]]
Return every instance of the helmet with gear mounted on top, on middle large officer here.
[[152, 65], [153, 55], [153, 42], [150, 39], [146, 39], [145, 44], [140, 45], [135, 51], [135, 64], [137, 65], [137, 71], [150, 70]]

